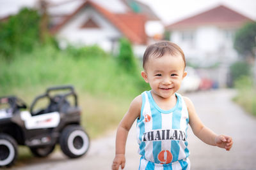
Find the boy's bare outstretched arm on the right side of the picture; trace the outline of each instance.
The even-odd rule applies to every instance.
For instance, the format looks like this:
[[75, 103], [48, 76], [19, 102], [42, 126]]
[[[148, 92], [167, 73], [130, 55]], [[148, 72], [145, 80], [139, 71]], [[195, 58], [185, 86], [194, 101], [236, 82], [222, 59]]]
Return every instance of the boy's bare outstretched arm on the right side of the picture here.
[[191, 100], [188, 97], [184, 97], [184, 101], [188, 107], [189, 125], [191, 126], [195, 136], [208, 145], [218, 146], [220, 148], [230, 150], [233, 145], [232, 138], [230, 136], [217, 135], [216, 133], [212, 132], [211, 129], [205, 127], [196, 114], [194, 104], [191, 102]]

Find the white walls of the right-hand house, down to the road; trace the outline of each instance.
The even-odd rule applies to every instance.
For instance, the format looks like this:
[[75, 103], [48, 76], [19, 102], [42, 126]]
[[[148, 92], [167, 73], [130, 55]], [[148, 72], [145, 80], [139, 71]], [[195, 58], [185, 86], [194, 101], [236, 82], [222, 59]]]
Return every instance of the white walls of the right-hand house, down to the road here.
[[234, 28], [205, 25], [173, 30], [170, 39], [182, 48], [188, 62], [204, 67], [219, 63], [214, 69], [200, 69], [199, 72], [204, 73], [202, 77], [217, 81], [220, 87], [225, 87], [229, 66], [238, 58], [233, 48], [235, 32]]

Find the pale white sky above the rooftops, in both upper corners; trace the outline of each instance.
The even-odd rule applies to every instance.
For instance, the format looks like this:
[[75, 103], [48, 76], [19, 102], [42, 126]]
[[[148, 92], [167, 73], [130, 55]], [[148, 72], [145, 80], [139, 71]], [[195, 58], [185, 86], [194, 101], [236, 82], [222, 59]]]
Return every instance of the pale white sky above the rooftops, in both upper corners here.
[[[61, 0], [67, 1], [67, 0]], [[77, 0], [79, 1], [79, 0]], [[108, 1], [108, 0], [106, 0]], [[138, 0], [148, 4], [164, 24], [172, 24], [224, 4], [239, 13], [256, 20], [256, 0]], [[22, 6], [32, 6], [35, 0], [0, 0], [0, 17], [17, 13]]]

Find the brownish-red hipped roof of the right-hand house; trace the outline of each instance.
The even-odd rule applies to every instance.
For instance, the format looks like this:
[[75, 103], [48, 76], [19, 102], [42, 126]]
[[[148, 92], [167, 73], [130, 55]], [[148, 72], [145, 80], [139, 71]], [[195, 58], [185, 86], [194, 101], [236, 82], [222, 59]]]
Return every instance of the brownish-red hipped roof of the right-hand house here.
[[180, 20], [174, 24], [168, 25], [167, 29], [196, 27], [199, 25], [219, 25], [219, 26], [237, 26], [244, 22], [250, 22], [252, 19], [245, 17], [237, 11], [231, 10], [226, 6], [220, 5], [211, 10], [199, 13], [193, 17]]

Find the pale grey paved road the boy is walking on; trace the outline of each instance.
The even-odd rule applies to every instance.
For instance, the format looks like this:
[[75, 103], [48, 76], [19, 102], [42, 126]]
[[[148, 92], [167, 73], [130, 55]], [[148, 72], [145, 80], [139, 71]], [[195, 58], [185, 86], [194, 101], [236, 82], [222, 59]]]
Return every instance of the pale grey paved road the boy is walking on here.
[[[186, 96], [195, 104], [204, 124], [218, 134], [228, 134], [234, 139], [230, 152], [205, 145], [189, 129], [188, 141], [191, 169], [256, 169], [256, 118], [232, 103], [233, 90], [198, 92]], [[127, 163], [125, 169], [138, 169], [134, 126], [127, 139]], [[31, 159], [12, 169], [111, 169], [115, 156], [115, 132], [104, 138], [94, 139], [87, 155], [80, 159], [67, 159], [61, 152], [54, 152], [46, 159]]]

